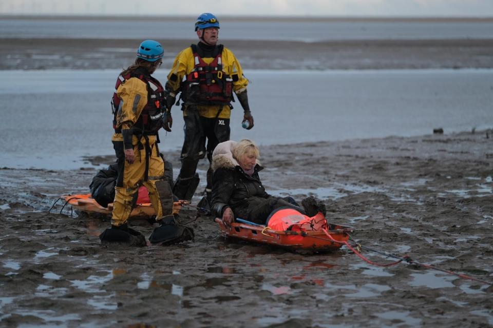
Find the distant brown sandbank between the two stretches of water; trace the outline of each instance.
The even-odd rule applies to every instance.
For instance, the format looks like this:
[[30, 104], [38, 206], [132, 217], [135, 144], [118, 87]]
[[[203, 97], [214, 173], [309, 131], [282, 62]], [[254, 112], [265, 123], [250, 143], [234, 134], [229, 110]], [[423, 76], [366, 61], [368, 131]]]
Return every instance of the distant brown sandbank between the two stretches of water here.
[[[123, 69], [141, 40], [0, 38], [0, 70]], [[163, 67], [195, 39], [159, 39]], [[289, 42], [225, 40], [244, 69], [492, 68], [493, 40], [340, 40]], [[15, 49], [13, 51], [12, 49]], [[122, 49], [124, 51], [122, 51]], [[126, 49], [126, 50], [125, 50]]]

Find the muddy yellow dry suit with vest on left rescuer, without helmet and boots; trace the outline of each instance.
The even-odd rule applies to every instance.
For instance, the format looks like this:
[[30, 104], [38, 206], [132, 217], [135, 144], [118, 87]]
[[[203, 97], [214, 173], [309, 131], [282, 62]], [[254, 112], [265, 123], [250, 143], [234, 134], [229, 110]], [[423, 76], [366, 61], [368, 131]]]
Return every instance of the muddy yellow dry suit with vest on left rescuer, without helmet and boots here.
[[[164, 160], [158, 149], [164, 89], [157, 79], [141, 73], [123, 79], [115, 93], [121, 100], [112, 137], [119, 174], [111, 224], [121, 226], [127, 222], [142, 185], [147, 187], [159, 220], [171, 214], [173, 208], [171, 190], [164, 178]], [[125, 149], [134, 150], [135, 160], [131, 164], [125, 160]]]

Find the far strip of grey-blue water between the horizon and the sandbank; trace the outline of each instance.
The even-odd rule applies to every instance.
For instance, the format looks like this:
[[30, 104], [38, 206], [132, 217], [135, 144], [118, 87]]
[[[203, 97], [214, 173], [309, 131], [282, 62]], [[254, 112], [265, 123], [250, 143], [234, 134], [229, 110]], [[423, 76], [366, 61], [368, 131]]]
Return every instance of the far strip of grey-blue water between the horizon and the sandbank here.
[[[485, 39], [493, 19], [238, 18], [220, 20], [220, 38], [240, 40]], [[0, 38], [195, 39], [194, 18], [0, 17]]]

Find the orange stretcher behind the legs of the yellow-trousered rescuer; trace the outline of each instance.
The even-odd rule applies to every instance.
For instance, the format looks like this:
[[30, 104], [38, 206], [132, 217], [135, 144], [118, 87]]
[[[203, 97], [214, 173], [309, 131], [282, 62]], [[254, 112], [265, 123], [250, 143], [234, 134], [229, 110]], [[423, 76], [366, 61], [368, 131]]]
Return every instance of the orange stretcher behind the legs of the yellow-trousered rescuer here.
[[[60, 197], [64, 199], [66, 204], [70, 205], [72, 209], [86, 212], [86, 213], [101, 213], [111, 215], [113, 211], [113, 203], [109, 203], [108, 207], [102, 207], [96, 200], [91, 197], [91, 194], [75, 194], [75, 195], [63, 195]], [[173, 203], [173, 214], [180, 212], [182, 206], [188, 205], [189, 201], [179, 200]], [[156, 215], [153, 204], [151, 203], [139, 203], [137, 202], [135, 208], [130, 213], [130, 217], [151, 217]]]

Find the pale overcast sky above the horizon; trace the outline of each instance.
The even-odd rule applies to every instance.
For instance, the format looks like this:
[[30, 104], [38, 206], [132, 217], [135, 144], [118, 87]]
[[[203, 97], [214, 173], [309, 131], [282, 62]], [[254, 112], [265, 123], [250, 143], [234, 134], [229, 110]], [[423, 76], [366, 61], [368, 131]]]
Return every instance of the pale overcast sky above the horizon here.
[[493, 0], [0, 0], [2, 14], [491, 17]]

